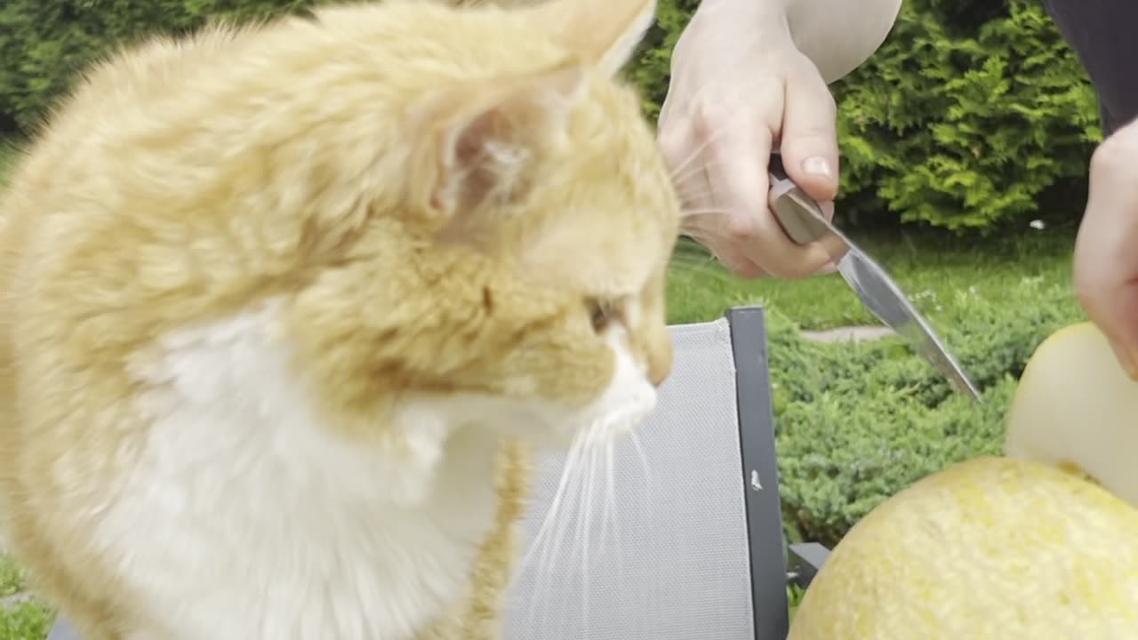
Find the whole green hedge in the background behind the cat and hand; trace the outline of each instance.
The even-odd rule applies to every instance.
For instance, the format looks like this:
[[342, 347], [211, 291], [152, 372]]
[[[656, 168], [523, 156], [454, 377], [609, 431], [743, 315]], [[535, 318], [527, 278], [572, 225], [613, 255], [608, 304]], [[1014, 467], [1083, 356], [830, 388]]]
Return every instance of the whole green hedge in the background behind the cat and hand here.
[[[208, 16], [267, 16], [320, 1], [6, 0], [0, 129], [34, 131], [76, 73], [118, 42], [190, 31]], [[628, 69], [650, 116], [696, 5], [662, 0]], [[906, 0], [881, 50], [834, 90], [847, 224], [991, 231], [1081, 213], [1100, 136], [1095, 97], [1038, 0]]]

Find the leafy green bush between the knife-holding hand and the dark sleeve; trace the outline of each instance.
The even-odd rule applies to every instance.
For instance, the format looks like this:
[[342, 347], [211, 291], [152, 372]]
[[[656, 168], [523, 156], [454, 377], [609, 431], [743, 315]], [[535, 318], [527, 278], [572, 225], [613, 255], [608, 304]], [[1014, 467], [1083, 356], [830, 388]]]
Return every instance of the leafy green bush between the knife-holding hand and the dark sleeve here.
[[1038, 0], [907, 0], [835, 97], [839, 211], [861, 224], [992, 231], [1082, 213], [1096, 97]]

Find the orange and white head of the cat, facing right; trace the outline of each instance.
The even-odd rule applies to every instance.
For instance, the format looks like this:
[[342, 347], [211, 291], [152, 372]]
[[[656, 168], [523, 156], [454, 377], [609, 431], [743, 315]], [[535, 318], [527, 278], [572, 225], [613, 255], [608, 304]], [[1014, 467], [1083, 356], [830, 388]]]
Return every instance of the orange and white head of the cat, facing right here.
[[[640, 98], [616, 77], [653, 10], [472, 9], [518, 25], [541, 54], [407, 102], [398, 206], [413, 246], [365, 237], [354, 252], [388, 256], [361, 269], [374, 280], [328, 279], [298, 306], [318, 376], [344, 403], [398, 388], [452, 420], [543, 437], [617, 433], [653, 408], [671, 367], [665, 276], [679, 205]], [[366, 346], [329, 338], [358, 336], [336, 327], [360, 312]]]

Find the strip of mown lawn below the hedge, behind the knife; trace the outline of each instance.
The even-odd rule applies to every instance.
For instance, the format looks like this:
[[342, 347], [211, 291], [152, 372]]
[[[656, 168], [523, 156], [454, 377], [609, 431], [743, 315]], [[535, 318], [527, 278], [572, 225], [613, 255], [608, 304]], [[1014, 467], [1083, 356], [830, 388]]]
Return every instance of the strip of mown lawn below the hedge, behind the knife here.
[[[1071, 278], [1074, 229], [1037, 231], [1024, 227], [1019, 236], [982, 243], [946, 240], [927, 235], [890, 233], [855, 237], [929, 314], [953, 304], [957, 292], [974, 288], [998, 296], [1028, 277], [1065, 284]], [[838, 273], [800, 280], [728, 274], [694, 243], [676, 251], [668, 279], [669, 322], [712, 320], [729, 306], [761, 303], [803, 329], [877, 325]]]

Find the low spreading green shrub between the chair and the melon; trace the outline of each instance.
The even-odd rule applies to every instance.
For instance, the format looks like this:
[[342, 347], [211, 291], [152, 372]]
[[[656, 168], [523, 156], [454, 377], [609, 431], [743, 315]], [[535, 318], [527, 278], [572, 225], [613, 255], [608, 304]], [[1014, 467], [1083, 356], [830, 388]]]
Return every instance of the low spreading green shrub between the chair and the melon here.
[[899, 338], [815, 343], [770, 317], [770, 370], [787, 534], [834, 544], [884, 499], [949, 463], [1000, 451], [1016, 380], [1040, 342], [1083, 319], [1070, 287], [1024, 279], [963, 292], [934, 317], [984, 402], [954, 394]]

